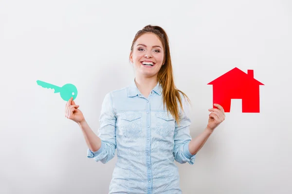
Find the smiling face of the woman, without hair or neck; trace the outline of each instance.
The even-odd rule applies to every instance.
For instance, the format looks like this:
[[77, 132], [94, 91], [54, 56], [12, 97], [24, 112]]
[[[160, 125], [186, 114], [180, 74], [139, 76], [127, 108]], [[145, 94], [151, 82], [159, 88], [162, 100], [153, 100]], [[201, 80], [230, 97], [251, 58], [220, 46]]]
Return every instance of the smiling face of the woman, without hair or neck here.
[[130, 54], [130, 61], [134, 65], [136, 76], [157, 76], [163, 65], [163, 59], [162, 42], [154, 33], [141, 35], [135, 42]]

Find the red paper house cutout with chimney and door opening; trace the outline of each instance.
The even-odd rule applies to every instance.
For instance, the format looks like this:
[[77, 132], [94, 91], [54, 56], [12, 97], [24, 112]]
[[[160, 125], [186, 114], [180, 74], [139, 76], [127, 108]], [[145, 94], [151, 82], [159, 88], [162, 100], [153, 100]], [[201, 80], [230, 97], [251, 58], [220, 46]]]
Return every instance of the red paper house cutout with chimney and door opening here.
[[254, 70], [246, 74], [235, 67], [208, 85], [213, 85], [213, 103], [225, 113], [230, 112], [231, 99], [242, 99], [242, 113], [259, 113], [259, 85], [264, 84], [254, 79]]

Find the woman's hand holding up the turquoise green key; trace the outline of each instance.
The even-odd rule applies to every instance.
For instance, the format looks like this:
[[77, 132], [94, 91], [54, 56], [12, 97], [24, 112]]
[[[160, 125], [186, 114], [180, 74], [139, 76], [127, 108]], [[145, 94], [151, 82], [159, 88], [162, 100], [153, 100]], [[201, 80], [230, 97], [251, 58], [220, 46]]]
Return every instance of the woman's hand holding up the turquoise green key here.
[[76, 123], [81, 123], [85, 120], [83, 113], [78, 109], [79, 105], [76, 105], [73, 97], [71, 97], [65, 107], [65, 117], [69, 118]]

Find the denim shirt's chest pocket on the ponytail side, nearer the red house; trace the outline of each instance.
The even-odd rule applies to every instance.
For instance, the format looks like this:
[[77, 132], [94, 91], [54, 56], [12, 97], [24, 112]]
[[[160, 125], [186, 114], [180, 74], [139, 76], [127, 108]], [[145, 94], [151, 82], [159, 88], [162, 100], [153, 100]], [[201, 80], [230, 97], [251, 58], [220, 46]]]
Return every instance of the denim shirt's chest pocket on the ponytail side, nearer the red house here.
[[174, 135], [175, 120], [170, 113], [156, 112], [156, 133], [162, 137]]

